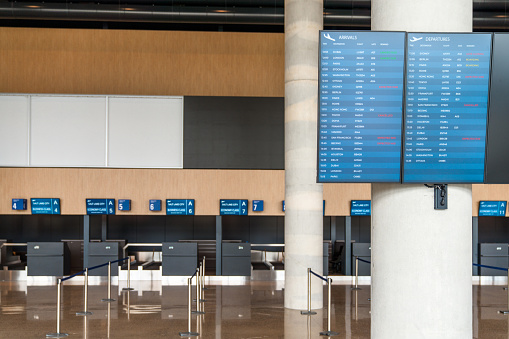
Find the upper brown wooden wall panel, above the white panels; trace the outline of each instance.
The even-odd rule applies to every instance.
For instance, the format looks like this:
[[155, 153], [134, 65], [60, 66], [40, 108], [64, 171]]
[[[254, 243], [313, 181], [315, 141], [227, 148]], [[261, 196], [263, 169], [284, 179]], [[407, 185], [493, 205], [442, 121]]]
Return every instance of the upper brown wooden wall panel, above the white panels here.
[[284, 96], [274, 33], [0, 28], [0, 92]]

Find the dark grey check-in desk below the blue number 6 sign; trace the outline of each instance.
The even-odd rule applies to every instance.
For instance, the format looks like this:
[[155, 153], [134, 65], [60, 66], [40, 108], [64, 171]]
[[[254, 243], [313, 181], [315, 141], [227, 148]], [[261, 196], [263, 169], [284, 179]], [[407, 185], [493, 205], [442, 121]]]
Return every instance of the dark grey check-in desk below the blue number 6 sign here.
[[163, 242], [163, 275], [191, 276], [198, 265], [198, 243]]

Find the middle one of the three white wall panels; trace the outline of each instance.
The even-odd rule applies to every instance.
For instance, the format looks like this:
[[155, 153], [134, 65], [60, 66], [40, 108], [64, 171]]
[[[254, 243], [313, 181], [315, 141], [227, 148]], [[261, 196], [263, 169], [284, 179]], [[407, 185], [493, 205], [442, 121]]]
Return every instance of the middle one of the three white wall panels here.
[[103, 167], [106, 98], [32, 96], [30, 166]]

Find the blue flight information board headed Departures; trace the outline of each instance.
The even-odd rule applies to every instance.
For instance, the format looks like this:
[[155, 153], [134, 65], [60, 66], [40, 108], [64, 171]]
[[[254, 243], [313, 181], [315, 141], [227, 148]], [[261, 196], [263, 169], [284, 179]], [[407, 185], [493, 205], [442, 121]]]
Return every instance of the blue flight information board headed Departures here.
[[408, 33], [403, 182], [482, 183], [490, 33]]

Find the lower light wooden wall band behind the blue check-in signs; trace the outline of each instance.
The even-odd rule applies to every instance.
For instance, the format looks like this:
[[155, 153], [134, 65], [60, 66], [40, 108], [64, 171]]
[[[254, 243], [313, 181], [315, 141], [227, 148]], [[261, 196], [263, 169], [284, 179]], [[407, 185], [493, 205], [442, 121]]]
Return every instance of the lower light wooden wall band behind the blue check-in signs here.
[[[282, 170], [180, 170], [92, 168], [0, 168], [0, 214], [13, 198], [60, 198], [62, 214], [86, 213], [86, 198], [132, 199], [132, 210], [118, 214], [152, 215], [150, 199], [196, 201], [197, 215], [218, 215], [219, 199], [264, 200], [265, 211], [250, 215], [284, 215]], [[351, 199], [370, 199], [369, 184], [325, 184], [326, 215], [348, 215]]]

